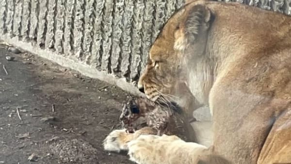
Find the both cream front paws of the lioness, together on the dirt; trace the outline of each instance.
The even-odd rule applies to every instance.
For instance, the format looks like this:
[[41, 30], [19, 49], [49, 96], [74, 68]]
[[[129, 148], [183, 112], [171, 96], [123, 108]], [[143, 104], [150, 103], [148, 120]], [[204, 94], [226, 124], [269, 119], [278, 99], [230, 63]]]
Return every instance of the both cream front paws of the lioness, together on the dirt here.
[[114, 130], [104, 140], [108, 151], [128, 150], [129, 160], [137, 164], [231, 164], [221, 156], [193, 142], [185, 142], [176, 135], [157, 136], [150, 128], [134, 133]]

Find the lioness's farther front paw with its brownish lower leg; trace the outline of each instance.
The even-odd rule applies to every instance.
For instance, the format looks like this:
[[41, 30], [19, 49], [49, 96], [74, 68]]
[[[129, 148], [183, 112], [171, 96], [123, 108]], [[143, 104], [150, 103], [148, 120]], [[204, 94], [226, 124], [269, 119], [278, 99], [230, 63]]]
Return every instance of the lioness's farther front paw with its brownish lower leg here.
[[128, 150], [128, 142], [135, 140], [142, 134], [156, 134], [157, 131], [153, 128], [144, 127], [134, 133], [126, 132], [126, 129], [114, 130], [108, 134], [103, 141], [103, 147], [107, 151], [120, 152], [121, 150]]

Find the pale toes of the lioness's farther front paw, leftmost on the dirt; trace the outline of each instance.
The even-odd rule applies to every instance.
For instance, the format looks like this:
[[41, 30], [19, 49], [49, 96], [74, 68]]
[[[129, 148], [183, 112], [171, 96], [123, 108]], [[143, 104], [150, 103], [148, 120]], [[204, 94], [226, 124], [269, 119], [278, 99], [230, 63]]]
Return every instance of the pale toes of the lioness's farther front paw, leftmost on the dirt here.
[[127, 136], [129, 133], [126, 129], [114, 130], [108, 134], [103, 141], [103, 147], [106, 151], [120, 152], [122, 150], [128, 150], [127, 147]]

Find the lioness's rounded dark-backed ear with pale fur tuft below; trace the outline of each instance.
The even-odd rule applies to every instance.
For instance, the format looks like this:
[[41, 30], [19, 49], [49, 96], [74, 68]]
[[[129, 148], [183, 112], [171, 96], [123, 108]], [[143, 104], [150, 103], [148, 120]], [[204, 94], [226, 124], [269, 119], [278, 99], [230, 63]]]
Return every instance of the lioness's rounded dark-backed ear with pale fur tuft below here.
[[195, 5], [186, 13], [184, 21], [179, 25], [175, 33], [175, 49], [184, 50], [188, 45], [193, 44], [199, 38], [207, 34], [210, 27], [210, 20], [213, 17], [210, 9], [205, 5]]

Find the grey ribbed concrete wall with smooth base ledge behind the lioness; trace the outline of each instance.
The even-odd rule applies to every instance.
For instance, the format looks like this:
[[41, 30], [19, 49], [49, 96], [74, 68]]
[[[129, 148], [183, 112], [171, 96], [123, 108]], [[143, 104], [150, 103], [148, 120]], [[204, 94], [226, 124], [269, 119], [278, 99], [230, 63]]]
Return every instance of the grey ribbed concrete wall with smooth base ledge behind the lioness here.
[[[225, 0], [229, 1], [229, 0]], [[291, 0], [239, 0], [291, 14]], [[184, 0], [0, 0], [0, 39], [133, 91], [150, 45]], [[136, 90], [134, 90], [135, 92]]]

